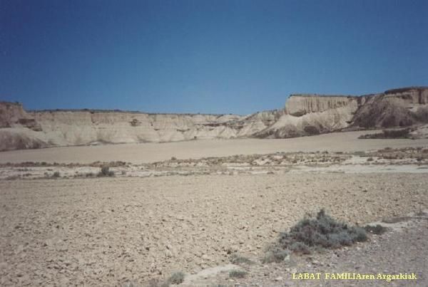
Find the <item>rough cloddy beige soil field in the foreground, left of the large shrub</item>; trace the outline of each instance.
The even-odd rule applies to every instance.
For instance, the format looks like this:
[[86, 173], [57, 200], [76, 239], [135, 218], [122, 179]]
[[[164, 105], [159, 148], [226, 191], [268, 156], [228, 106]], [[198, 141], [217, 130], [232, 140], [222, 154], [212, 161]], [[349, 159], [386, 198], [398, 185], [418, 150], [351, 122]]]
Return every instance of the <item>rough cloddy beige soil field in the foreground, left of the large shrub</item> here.
[[306, 212], [403, 216], [428, 206], [427, 186], [400, 173], [1, 180], [0, 285], [143, 284], [260, 259]]

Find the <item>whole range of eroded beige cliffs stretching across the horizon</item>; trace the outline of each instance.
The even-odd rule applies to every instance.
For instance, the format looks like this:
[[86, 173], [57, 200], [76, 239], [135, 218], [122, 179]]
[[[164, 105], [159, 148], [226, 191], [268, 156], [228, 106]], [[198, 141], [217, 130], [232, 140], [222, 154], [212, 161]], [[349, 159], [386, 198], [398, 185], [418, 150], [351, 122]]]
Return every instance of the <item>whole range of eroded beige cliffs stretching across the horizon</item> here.
[[0, 150], [235, 137], [285, 138], [424, 122], [428, 122], [428, 88], [419, 87], [362, 96], [290, 95], [283, 109], [247, 116], [119, 110], [27, 113], [20, 104], [0, 102]]

